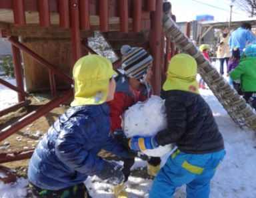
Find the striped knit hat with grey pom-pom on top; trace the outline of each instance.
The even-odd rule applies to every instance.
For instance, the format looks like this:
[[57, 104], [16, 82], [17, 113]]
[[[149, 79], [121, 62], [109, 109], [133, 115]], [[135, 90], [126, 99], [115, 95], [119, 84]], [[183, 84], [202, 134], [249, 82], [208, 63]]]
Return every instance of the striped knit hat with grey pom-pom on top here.
[[139, 80], [147, 74], [153, 58], [145, 49], [123, 45], [121, 47], [121, 54], [123, 55], [121, 68], [126, 76]]

